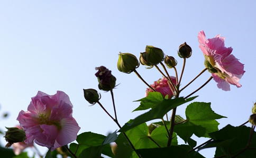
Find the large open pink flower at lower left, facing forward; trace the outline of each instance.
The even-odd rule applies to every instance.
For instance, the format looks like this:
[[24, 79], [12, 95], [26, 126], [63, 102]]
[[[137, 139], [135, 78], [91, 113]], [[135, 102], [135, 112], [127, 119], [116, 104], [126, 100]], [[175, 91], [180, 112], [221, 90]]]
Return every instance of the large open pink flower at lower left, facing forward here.
[[54, 149], [67, 145], [77, 138], [80, 130], [66, 93], [48, 95], [38, 92], [29, 104], [28, 111], [19, 113], [17, 120], [26, 133], [26, 144], [35, 143]]

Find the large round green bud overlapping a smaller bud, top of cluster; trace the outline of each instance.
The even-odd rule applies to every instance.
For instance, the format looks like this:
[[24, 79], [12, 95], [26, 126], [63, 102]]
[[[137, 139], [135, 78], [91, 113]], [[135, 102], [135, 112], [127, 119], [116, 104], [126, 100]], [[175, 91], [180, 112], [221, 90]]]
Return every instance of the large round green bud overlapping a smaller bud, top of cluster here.
[[160, 48], [154, 46], [146, 46], [147, 62], [157, 65], [164, 59], [164, 53]]

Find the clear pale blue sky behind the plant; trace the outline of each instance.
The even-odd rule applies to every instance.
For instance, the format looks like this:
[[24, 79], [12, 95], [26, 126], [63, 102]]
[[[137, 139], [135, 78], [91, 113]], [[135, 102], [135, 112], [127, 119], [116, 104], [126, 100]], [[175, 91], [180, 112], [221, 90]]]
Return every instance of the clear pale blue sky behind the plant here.
[[[187, 42], [193, 49], [188, 58], [182, 85], [185, 86], [204, 68], [204, 56], [197, 40], [204, 30], [206, 38], [225, 37], [225, 46], [245, 64], [241, 88], [225, 92], [211, 81], [194, 95], [197, 102], [212, 102], [212, 109], [228, 118], [218, 120], [219, 128], [246, 122], [255, 95], [256, 1], [1, 1], [0, 2], [0, 130], [18, 124], [16, 117], [26, 111], [38, 91], [49, 95], [63, 91], [74, 105], [73, 116], [81, 130], [107, 135], [117, 125], [96, 104], [84, 99], [83, 88], [98, 90], [95, 67], [104, 65], [120, 84], [114, 89], [117, 117], [121, 125], [143, 112], [132, 111], [133, 102], [144, 97], [147, 88], [134, 74], [117, 70], [118, 52], [137, 57], [146, 45], [163, 50], [178, 61], [177, 50]], [[161, 74], [140, 65], [137, 71], [152, 84]], [[168, 70], [175, 75], [173, 70]], [[196, 90], [211, 76], [205, 72], [181, 96]], [[111, 94], [98, 90], [100, 102], [113, 113]], [[188, 104], [177, 108], [185, 117]], [[160, 120], [156, 120], [160, 121]], [[250, 126], [250, 124], [247, 124]], [[4, 138], [0, 136], [1, 144]], [[196, 139], [196, 137], [194, 137]], [[198, 145], [208, 139], [196, 139]], [[184, 142], [179, 140], [180, 144]], [[45, 147], [41, 152], [47, 151]], [[202, 150], [211, 157], [214, 150]]]

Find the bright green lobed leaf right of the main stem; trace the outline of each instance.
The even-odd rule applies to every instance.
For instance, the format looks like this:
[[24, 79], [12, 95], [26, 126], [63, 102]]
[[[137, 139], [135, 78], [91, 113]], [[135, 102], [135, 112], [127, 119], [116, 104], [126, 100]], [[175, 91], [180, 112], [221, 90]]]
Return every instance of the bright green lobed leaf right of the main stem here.
[[214, 113], [211, 103], [194, 102], [186, 108], [187, 121], [176, 125], [174, 131], [186, 143], [193, 134], [198, 137], [209, 137], [208, 133], [218, 130], [219, 123], [216, 119], [224, 117]]

